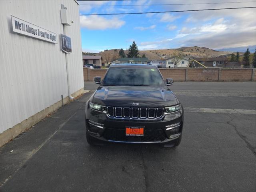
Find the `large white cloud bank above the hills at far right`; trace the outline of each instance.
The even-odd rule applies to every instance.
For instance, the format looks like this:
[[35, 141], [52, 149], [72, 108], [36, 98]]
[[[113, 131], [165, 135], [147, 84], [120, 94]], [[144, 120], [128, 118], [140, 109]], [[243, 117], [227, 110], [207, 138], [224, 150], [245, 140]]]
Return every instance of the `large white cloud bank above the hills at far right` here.
[[[180, 38], [179, 40], [176, 40]], [[220, 18], [212, 24], [193, 28], [183, 27], [174, 38], [186, 46], [204, 46], [212, 49], [241, 47], [256, 44], [256, 26]]]

